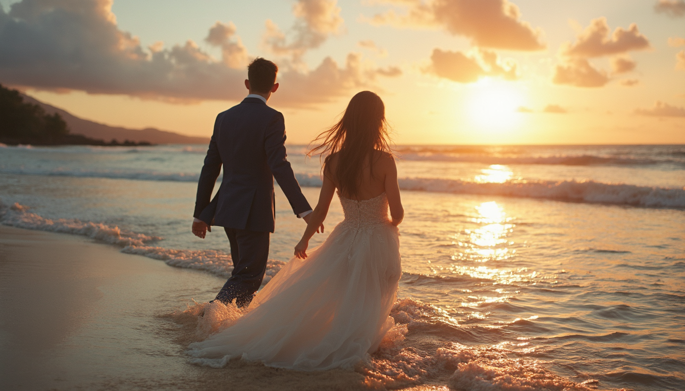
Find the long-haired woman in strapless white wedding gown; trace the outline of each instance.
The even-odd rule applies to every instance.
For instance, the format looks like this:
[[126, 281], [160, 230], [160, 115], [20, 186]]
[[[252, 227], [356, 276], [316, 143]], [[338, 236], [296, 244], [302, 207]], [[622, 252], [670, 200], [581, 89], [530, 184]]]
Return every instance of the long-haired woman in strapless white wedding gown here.
[[[383, 101], [359, 92], [310, 151], [327, 157], [319, 203], [295, 257], [234, 325], [190, 345], [191, 362], [224, 366], [242, 358], [299, 370], [351, 368], [378, 348], [394, 325], [397, 225], [404, 215], [387, 138]], [[336, 189], [345, 219], [308, 252]]]

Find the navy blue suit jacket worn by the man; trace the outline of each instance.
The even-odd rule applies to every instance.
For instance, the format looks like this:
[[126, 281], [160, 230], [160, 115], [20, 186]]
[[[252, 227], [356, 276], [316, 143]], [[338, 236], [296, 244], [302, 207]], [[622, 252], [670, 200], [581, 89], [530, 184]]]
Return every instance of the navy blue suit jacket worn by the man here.
[[[209, 225], [273, 232], [274, 178], [292, 212], [312, 209], [286, 160], [285, 142], [283, 114], [261, 99], [245, 98], [216, 116], [193, 216]], [[221, 187], [210, 201], [222, 164]]]

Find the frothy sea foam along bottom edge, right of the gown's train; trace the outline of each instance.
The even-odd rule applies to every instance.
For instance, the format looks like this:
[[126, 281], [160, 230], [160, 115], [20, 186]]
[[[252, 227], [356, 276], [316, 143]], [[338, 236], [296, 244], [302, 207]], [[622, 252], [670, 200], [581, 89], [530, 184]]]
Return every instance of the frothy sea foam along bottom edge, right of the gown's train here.
[[[432, 337], [431, 334], [410, 338], [420, 341], [416, 346], [412, 342], [405, 342], [412, 332], [421, 332], [421, 327], [416, 327], [417, 323], [434, 324], [440, 322], [440, 318], [445, 318], [438, 308], [428, 303], [399, 299], [390, 315], [398, 325], [386, 335], [380, 349], [371, 356], [371, 363], [358, 368], [369, 386], [405, 388], [425, 383], [440, 373], [451, 373], [448, 383], [453, 390], [595, 389], [586, 386], [588, 381], [577, 383], [551, 373], [543, 362], [516, 357], [517, 351], [527, 349], [526, 346], [519, 346], [521, 344], [467, 346], [458, 342], [444, 342], [445, 338]], [[425, 351], [426, 346], [430, 345], [440, 347]]]

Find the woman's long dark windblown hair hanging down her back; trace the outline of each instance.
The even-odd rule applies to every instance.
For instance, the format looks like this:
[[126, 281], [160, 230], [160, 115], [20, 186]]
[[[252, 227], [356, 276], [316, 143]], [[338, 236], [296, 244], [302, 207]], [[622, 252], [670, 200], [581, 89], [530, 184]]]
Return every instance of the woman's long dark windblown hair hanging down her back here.
[[[325, 155], [323, 175], [334, 179], [343, 195], [356, 197], [365, 164], [369, 164], [373, 177], [374, 151], [392, 153], [388, 138], [383, 101], [371, 91], [362, 91], [349, 101], [343, 118], [312, 141], [319, 145], [308, 156]], [[338, 154], [338, 164], [331, 172], [328, 163], [334, 153]]]

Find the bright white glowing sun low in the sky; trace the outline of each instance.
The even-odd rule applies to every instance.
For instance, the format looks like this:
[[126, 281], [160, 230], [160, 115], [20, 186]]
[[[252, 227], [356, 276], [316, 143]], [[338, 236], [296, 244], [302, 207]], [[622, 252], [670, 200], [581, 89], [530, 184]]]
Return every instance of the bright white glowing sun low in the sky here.
[[523, 94], [508, 83], [486, 77], [473, 85], [468, 111], [478, 127], [509, 130], [519, 120], [516, 110], [523, 105]]

